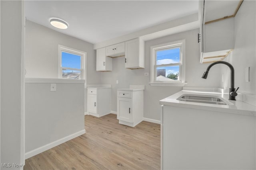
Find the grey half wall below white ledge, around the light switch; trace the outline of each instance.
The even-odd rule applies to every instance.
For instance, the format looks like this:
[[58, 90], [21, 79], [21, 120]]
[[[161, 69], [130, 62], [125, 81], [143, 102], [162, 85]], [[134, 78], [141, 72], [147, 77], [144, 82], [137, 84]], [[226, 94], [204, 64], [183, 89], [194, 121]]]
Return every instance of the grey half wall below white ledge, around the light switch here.
[[84, 130], [84, 84], [56, 85], [26, 83], [26, 154]]

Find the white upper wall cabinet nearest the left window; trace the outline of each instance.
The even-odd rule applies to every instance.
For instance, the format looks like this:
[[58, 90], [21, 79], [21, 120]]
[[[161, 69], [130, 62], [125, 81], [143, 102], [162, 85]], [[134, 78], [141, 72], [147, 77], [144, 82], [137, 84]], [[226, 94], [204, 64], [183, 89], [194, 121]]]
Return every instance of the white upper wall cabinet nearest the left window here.
[[106, 56], [106, 48], [96, 51], [96, 71], [112, 71], [112, 58]]

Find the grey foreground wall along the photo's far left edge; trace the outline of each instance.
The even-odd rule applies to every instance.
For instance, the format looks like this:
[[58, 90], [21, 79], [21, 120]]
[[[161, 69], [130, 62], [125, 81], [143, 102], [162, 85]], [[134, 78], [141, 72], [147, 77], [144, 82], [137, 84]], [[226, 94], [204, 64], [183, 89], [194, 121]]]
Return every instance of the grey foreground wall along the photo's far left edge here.
[[[22, 2], [1, 1], [1, 163], [21, 160]], [[6, 17], [8, 16], [8, 17]], [[2, 169], [18, 169], [3, 168]]]

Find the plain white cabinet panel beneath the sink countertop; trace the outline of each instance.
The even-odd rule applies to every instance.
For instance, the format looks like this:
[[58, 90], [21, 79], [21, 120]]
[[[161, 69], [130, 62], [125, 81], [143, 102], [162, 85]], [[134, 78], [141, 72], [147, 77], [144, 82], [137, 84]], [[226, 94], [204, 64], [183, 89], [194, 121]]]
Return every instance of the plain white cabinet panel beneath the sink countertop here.
[[188, 169], [255, 169], [255, 117], [164, 105], [161, 170]]

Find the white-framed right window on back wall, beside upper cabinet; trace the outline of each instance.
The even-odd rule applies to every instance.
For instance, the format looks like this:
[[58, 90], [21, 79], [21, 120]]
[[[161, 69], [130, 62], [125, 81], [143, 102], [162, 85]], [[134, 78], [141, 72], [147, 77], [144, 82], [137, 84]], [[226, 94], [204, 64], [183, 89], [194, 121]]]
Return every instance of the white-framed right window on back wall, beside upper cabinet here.
[[152, 46], [151, 84], [185, 82], [185, 40]]

